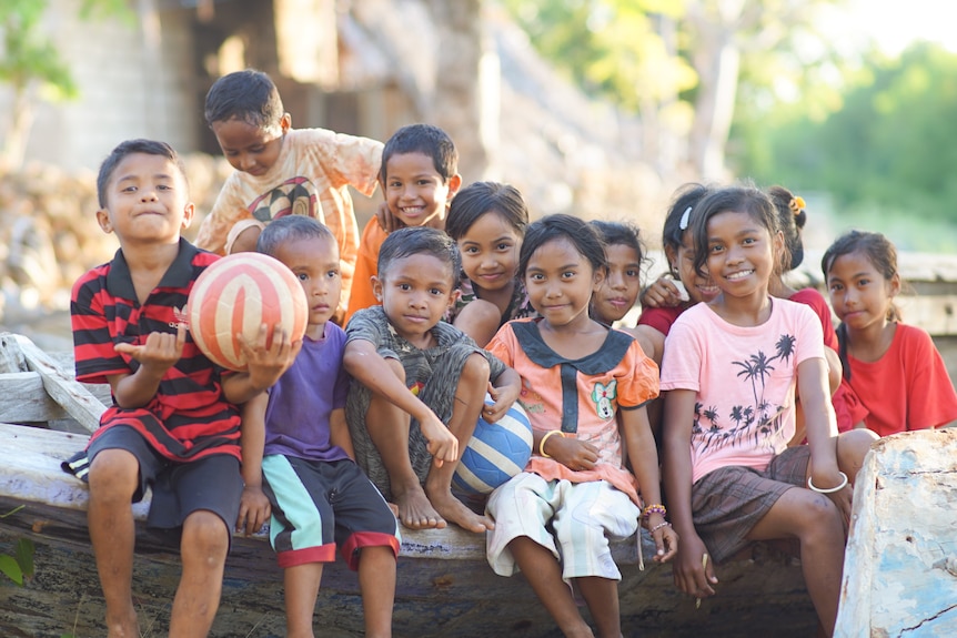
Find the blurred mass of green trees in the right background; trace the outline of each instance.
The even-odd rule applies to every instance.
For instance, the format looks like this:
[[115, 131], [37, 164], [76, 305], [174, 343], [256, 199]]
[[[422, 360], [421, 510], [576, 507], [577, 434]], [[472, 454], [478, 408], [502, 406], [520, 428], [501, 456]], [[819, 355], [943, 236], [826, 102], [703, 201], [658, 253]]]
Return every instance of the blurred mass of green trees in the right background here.
[[820, 120], [798, 104], [739, 128], [741, 170], [824, 191], [847, 217], [867, 211], [957, 225], [957, 54], [918, 43], [899, 59], [875, 55], [872, 69]]

